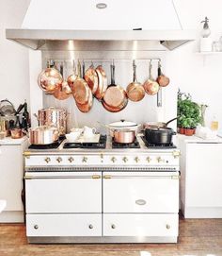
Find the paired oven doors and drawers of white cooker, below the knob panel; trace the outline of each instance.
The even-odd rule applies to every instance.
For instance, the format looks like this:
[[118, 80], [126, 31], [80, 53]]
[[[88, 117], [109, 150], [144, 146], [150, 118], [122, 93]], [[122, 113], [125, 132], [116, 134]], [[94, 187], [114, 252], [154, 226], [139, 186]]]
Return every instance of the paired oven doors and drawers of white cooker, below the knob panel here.
[[28, 240], [175, 243], [178, 178], [178, 172], [26, 173]]

